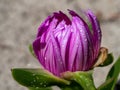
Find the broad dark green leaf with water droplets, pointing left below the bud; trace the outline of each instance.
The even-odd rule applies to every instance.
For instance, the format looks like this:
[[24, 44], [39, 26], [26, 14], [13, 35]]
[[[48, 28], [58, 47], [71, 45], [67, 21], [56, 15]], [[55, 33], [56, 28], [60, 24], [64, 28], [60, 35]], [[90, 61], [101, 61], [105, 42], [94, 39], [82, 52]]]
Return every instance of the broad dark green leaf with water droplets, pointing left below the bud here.
[[26, 87], [50, 87], [53, 85], [64, 86], [70, 82], [54, 76], [44, 69], [12, 69], [13, 78], [21, 85]]

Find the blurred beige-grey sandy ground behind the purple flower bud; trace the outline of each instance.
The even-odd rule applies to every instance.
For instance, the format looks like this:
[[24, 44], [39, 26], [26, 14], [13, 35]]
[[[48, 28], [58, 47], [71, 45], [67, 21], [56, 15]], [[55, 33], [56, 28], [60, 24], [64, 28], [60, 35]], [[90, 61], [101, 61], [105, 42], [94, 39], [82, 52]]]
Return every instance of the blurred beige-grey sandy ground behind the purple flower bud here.
[[[0, 0], [0, 90], [27, 90], [16, 83], [11, 68], [40, 68], [28, 45], [40, 23], [52, 12], [91, 9], [97, 15], [103, 33], [102, 46], [120, 55], [120, 0]], [[105, 80], [111, 65], [96, 68], [96, 86]], [[55, 90], [57, 90], [55, 88]]]

